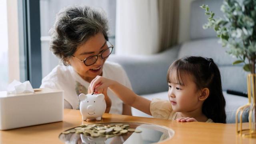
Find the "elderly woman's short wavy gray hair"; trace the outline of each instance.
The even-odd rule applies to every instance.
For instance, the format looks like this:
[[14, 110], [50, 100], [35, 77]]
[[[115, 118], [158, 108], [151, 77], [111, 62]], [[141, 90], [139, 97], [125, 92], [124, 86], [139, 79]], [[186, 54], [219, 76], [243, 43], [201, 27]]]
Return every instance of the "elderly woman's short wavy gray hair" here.
[[60, 10], [50, 30], [50, 50], [68, 65], [78, 46], [101, 32], [108, 40], [108, 20], [103, 11], [90, 6], [69, 6]]

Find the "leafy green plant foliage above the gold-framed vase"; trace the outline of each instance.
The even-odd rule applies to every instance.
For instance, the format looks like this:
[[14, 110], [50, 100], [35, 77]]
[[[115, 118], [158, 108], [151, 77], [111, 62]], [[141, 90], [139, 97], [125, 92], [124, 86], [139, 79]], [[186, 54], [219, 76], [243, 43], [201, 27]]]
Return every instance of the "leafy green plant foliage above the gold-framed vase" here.
[[210, 16], [203, 28], [214, 28], [228, 54], [238, 58], [233, 64], [244, 63], [244, 70], [255, 74], [256, 64], [256, 0], [224, 0], [224, 18], [214, 18], [208, 5], [202, 5]]

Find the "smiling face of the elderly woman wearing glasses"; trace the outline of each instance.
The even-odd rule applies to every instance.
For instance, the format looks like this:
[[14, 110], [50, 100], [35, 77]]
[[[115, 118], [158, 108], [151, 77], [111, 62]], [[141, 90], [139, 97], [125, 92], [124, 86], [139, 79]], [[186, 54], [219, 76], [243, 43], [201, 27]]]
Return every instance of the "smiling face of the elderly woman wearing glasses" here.
[[[107, 58], [102, 59], [100, 55], [98, 56], [98, 60], [92, 64], [91, 66], [86, 66], [84, 62], [80, 60], [84, 60], [85, 58], [97, 55], [108, 48], [106, 44], [106, 40], [102, 33], [98, 33], [95, 36], [91, 37], [87, 42], [78, 46], [76, 52], [73, 54], [75, 57], [71, 57], [69, 62], [74, 70], [86, 81], [91, 82], [97, 75], [102, 75], [102, 68], [104, 62]], [[78, 60], [78, 59], [80, 60]]]

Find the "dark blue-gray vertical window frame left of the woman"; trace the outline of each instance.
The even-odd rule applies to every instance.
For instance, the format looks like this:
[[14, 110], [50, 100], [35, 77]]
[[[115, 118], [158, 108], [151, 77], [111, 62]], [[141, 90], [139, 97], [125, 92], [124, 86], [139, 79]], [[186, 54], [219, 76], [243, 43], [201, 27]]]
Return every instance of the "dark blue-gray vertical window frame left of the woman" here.
[[40, 0], [18, 0], [20, 81], [29, 80], [33, 88], [42, 81]]

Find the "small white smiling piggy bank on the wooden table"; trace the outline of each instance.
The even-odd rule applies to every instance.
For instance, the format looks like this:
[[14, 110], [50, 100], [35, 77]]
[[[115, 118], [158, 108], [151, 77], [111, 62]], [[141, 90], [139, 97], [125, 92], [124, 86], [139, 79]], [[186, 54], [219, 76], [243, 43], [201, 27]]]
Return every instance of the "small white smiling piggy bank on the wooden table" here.
[[80, 112], [82, 119], [95, 118], [101, 120], [106, 110], [106, 101], [104, 94], [80, 94]]

